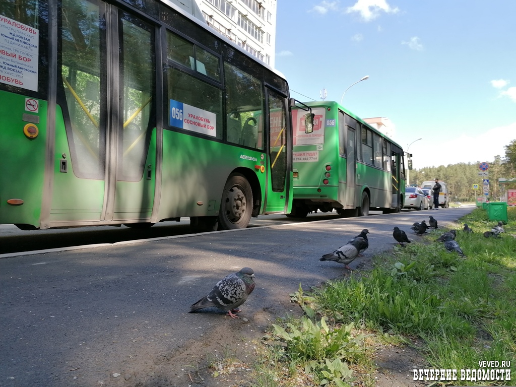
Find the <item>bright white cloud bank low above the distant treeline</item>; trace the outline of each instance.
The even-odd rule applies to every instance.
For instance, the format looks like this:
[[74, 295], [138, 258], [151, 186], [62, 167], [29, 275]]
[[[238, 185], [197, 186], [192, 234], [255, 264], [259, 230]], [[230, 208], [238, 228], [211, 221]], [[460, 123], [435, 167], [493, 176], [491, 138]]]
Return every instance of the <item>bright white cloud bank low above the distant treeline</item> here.
[[[435, 139], [423, 136], [423, 140], [414, 142], [410, 147], [413, 166], [415, 169], [421, 169], [457, 163], [492, 162], [496, 155], [502, 158], [505, 156], [504, 146], [514, 140], [515, 133], [516, 122], [492, 128], [477, 136], [447, 137], [439, 141], [438, 156]], [[398, 142], [406, 147], [403, 141]]]

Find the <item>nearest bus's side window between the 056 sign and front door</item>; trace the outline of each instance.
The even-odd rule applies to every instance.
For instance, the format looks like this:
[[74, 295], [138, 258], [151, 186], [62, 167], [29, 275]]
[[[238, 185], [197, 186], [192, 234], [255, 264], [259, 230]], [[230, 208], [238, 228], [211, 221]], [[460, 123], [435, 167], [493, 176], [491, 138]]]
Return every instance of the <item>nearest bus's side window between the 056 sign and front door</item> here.
[[263, 150], [262, 83], [224, 63], [227, 135], [229, 142]]

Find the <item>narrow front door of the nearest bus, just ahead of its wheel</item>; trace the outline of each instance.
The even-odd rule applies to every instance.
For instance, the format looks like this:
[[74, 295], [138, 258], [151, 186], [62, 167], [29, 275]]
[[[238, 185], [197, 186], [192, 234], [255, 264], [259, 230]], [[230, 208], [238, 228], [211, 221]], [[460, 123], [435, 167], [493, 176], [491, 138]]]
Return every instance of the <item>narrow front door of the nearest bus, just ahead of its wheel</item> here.
[[285, 96], [266, 89], [269, 118], [269, 166], [265, 213], [287, 212], [291, 186], [291, 128], [287, 120]]

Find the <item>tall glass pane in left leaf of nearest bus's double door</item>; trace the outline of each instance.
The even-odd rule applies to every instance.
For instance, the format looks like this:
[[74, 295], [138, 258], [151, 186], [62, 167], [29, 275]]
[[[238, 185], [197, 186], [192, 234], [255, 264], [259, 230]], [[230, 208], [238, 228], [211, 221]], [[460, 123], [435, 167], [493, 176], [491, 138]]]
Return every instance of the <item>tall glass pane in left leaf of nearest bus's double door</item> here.
[[103, 179], [105, 163], [105, 95], [101, 94], [99, 6], [65, 0], [62, 7], [61, 78], [66, 98], [66, 130], [73, 171], [79, 178]]

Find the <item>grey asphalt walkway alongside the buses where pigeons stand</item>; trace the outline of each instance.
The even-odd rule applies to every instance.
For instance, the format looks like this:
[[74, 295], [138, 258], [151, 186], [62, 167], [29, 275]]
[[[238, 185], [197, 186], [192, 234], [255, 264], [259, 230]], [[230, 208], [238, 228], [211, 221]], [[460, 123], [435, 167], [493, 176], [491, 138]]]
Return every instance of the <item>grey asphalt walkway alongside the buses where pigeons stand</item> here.
[[[319, 257], [363, 228], [370, 231], [370, 247], [351, 267], [392, 249], [394, 225], [417, 239], [410, 230], [414, 221], [433, 215], [442, 227], [473, 208], [287, 223], [0, 259], [0, 386], [125, 385], [104, 381], [112, 373], [136, 375], [134, 367], [145, 361], [145, 372], [152, 372], [158, 358], [202, 341], [216, 328], [244, 324], [253, 330], [284, 316], [292, 308], [288, 294], [300, 283], [307, 288], [343, 274], [343, 265]], [[242, 307], [248, 322], [186, 313], [218, 280], [244, 266], [254, 269], [257, 283]]]

